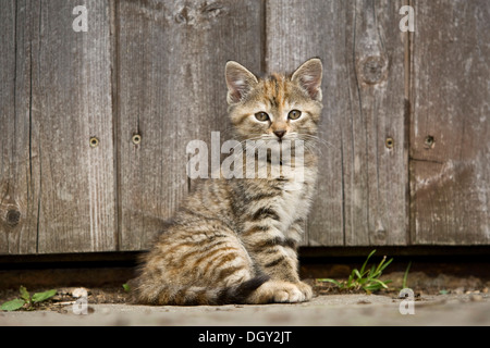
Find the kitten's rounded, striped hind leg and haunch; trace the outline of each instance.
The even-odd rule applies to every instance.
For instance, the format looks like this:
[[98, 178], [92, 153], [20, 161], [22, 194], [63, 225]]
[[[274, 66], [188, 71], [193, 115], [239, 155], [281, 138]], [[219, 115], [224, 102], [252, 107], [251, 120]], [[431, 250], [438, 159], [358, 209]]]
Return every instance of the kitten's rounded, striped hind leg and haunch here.
[[215, 304], [224, 288], [255, 276], [252, 260], [225, 226], [173, 226], [146, 256], [137, 301], [152, 304]]

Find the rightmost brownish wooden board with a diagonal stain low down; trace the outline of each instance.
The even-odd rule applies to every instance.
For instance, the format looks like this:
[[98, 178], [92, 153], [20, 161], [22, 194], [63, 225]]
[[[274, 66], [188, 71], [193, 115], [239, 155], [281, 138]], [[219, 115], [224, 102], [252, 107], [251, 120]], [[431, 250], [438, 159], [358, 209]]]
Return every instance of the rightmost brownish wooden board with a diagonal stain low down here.
[[412, 243], [490, 243], [490, 8], [415, 1]]

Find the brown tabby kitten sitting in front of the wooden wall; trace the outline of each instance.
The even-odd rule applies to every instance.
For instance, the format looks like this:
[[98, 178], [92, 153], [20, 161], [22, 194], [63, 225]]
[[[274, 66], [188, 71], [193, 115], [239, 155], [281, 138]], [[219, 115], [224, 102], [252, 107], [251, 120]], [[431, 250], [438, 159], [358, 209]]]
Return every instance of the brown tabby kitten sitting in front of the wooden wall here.
[[[297, 173], [285, 171], [265, 178], [203, 181], [144, 257], [133, 282], [137, 302], [269, 303], [311, 298], [311, 288], [298, 277], [296, 247], [317, 176], [317, 157], [310, 149], [318, 139], [321, 76], [319, 59], [308, 60], [291, 76], [264, 79], [236, 62], [226, 63], [235, 138], [303, 140], [301, 185], [289, 186], [297, 184]], [[255, 153], [255, 148], [243, 153], [252, 150]], [[271, 152], [266, 159], [269, 169], [286, 165], [270, 158]]]

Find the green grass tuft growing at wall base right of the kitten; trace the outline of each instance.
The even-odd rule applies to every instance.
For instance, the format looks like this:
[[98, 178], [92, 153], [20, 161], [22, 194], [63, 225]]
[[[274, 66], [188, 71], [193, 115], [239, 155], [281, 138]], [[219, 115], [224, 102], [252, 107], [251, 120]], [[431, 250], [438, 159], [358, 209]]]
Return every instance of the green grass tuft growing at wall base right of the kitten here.
[[347, 281], [339, 282], [331, 278], [320, 278], [317, 281], [324, 283], [333, 283], [339, 287], [340, 290], [358, 291], [363, 289], [366, 293], [370, 294], [373, 291], [378, 291], [382, 288], [387, 289], [388, 288], [387, 284], [391, 283], [391, 281], [382, 282], [379, 279], [379, 277], [381, 276], [384, 269], [393, 261], [393, 259], [387, 261], [387, 257], [383, 257], [383, 259], [378, 265], [373, 264], [371, 269], [366, 269], [369, 259], [375, 254], [375, 252], [376, 250], [372, 250], [369, 253], [360, 270], [354, 269], [352, 271]]

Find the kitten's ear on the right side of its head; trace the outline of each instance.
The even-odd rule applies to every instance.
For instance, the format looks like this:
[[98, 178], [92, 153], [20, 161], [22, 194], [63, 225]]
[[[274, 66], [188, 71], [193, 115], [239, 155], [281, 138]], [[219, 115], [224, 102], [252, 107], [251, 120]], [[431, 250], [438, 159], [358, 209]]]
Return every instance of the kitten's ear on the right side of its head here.
[[321, 76], [323, 67], [318, 58], [311, 58], [302, 64], [291, 77], [293, 83], [302, 86], [314, 100], [321, 101]]

